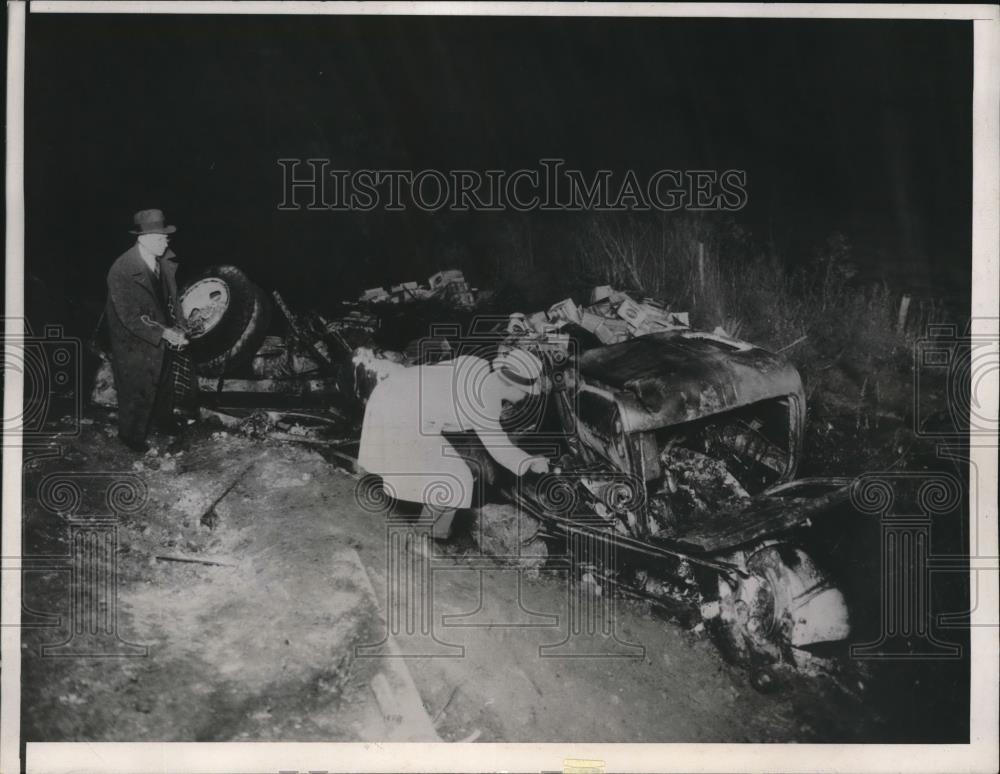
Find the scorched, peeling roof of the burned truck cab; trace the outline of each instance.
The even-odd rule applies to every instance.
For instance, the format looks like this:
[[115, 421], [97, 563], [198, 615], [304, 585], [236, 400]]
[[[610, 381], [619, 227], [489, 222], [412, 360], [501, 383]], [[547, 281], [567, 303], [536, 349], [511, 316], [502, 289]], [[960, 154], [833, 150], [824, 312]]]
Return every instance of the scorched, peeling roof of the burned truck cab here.
[[630, 432], [802, 394], [798, 371], [783, 357], [711, 333], [637, 336], [588, 350], [578, 363], [586, 381], [620, 393]]

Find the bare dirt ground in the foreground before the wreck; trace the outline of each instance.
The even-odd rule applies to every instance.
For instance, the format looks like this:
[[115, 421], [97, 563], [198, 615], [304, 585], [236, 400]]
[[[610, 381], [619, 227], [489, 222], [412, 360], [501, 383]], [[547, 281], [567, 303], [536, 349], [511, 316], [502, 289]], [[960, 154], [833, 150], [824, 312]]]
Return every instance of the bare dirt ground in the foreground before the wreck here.
[[[871, 700], [867, 676], [763, 694], [703, 630], [610, 591], [615, 637], [568, 637], [570, 587], [559, 569], [519, 573], [460, 546], [432, 555], [425, 578], [426, 557], [403, 551], [404, 572], [433, 584], [428, 607], [414, 612], [400, 601], [391, 525], [359, 506], [358, 477], [314, 448], [198, 424], [179, 441], [154, 437], [156, 454], [139, 457], [118, 443], [106, 413], [84, 422], [78, 437], [53, 427], [25, 466], [25, 554], [55, 557], [25, 562], [35, 568], [24, 575], [26, 740], [893, 735], [898, 717]], [[107, 512], [107, 482], [123, 473], [145, 483], [148, 499], [114, 522], [117, 589], [101, 596], [88, 590], [99, 584], [70, 582], [69, 520]], [[53, 476], [86, 490], [75, 516], [42, 495]], [[85, 598], [71, 607], [70, 588], [80, 587]], [[93, 647], [70, 636], [89, 625], [79, 609], [116, 612], [117, 639], [95, 640], [113, 652], [73, 653], [76, 642]], [[386, 637], [387, 622], [396, 636]]]

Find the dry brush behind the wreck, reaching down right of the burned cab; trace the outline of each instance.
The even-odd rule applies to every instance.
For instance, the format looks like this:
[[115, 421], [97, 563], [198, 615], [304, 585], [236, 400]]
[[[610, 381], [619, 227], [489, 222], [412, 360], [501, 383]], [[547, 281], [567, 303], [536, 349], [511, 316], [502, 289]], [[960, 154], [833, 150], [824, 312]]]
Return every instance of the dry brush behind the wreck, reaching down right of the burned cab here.
[[811, 254], [783, 256], [720, 213], [586, 213], [548, 228], [522, 218], [504, 237], [496, 272], [510, 308], [533, 311], [566, 295], [585, 302], [591, 287], [610, 284], [688, 311], [698, 328], [721, 326], [783, 352], [821, 418], [810, 424], [818, 465], [890, 464], [913, 411], [914, 341], [928, 323], [947, 321], [943, 304], [921, 301], [898, 330], [902, 293], [860, 281], [839, 233]]

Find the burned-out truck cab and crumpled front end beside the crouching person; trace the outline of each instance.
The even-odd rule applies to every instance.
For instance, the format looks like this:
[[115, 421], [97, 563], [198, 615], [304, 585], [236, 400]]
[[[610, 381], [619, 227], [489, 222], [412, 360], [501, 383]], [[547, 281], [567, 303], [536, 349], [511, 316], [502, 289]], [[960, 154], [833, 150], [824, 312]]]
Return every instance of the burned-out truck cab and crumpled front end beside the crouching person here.
[[536, 523], [536, 545], [575, 535], [585, 540], [574, 546], [603, 546], [577, 566], [704, 622], [757, 675], [846, 638], [844, 596], [808, 538], [814, 519], [849, 499], [850, 480], [796, 478], [806, 403], [795, 367], [689, 328], [575, 341], [572, 354], [514, 342], [546, 363], [548, 390], [538, 411], [519, 412], [533, 417], [527, 426], [507, 429], [552, 472], [516, 479], [474, 438], [449, 437], [507, 502], [487, 502], [479, 518], [516, 510]]

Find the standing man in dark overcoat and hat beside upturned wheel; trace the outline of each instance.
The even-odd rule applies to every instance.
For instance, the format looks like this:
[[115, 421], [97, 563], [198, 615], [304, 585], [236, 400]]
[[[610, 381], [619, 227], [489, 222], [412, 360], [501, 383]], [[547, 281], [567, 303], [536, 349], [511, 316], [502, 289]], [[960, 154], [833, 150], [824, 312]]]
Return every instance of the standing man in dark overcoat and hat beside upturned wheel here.
[[177, 228], [161, 210], [141, 210], [133, 218], [135, 244], [108, 272], [105, 313], [111, 364], [118, 390], [118, 436], [130, 449], [146, 451], [150, 424], [176, 434], [173, 416], [174, 352], [187, 346], [178, 326], [177, 260], [167, 246]]

